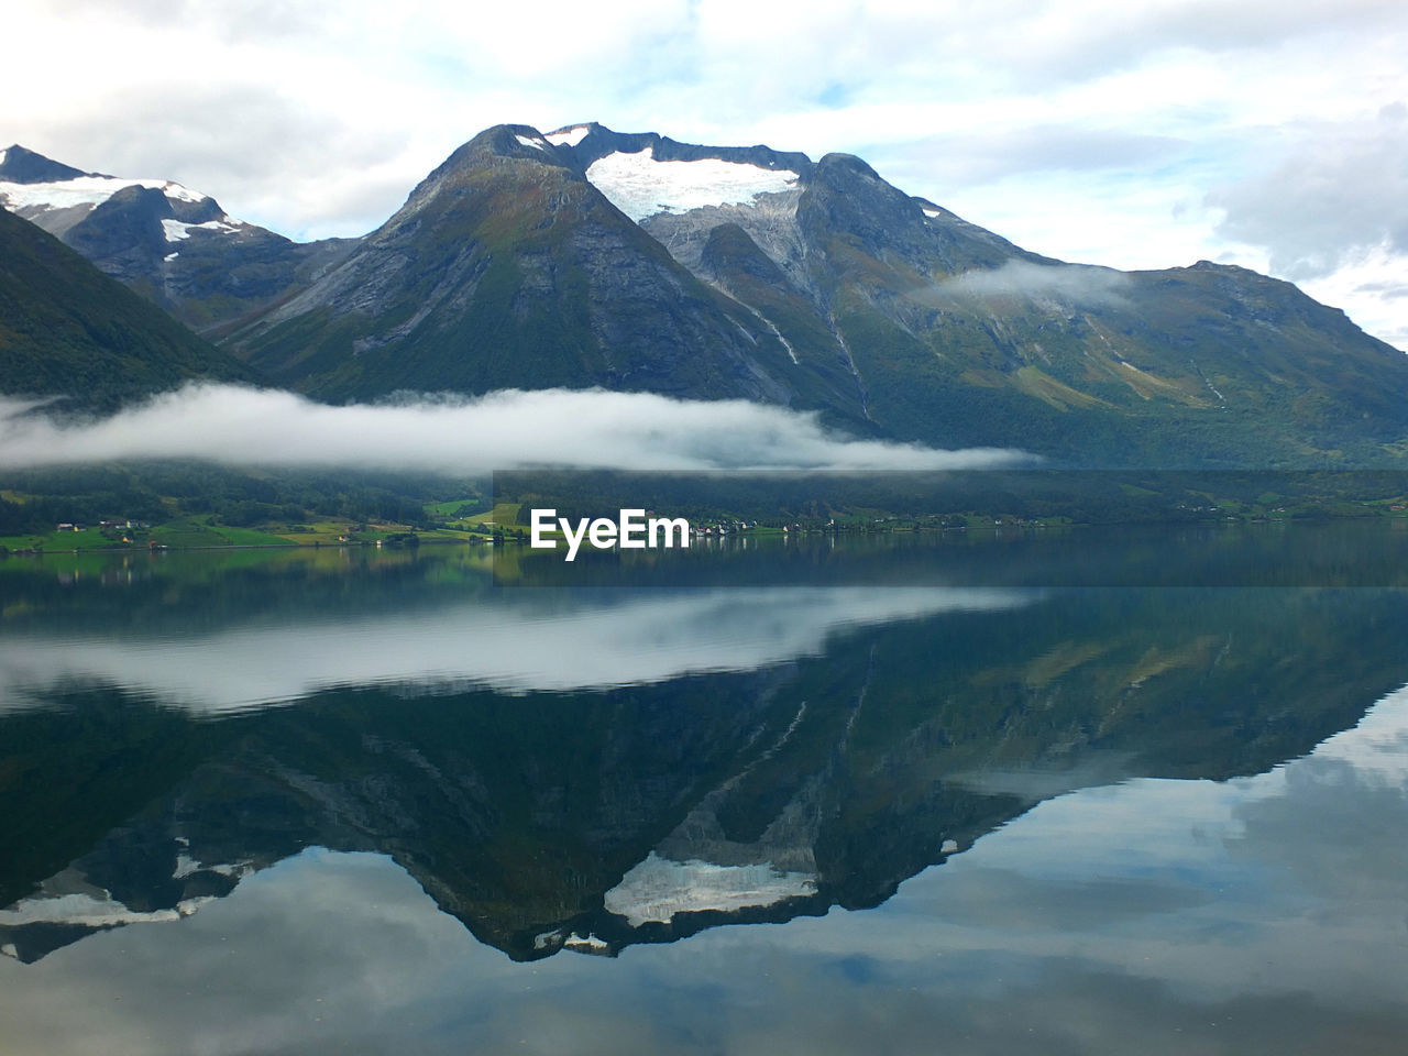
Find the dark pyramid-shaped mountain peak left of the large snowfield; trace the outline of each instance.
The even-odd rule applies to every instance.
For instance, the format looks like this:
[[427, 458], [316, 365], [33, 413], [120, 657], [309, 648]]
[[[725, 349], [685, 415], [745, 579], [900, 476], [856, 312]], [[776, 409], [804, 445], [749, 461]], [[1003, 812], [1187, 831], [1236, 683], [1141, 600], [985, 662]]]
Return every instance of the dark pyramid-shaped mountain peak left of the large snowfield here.
[[838, 352], [794, 362], [766, 320], [691, 275], [524, 127], [462, 146], [346, 260], [230, 346], [334, 400], [603, 386], [863, 410]]

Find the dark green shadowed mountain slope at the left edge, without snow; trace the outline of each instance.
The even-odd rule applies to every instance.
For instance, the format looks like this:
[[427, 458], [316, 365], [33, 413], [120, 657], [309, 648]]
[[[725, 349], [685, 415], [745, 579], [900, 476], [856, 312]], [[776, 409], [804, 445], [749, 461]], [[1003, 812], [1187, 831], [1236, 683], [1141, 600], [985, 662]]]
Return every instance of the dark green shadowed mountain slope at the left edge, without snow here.
[[253, 373], [0, 210], [0, 391], [111, 410], [191, 379], [252, 382]]

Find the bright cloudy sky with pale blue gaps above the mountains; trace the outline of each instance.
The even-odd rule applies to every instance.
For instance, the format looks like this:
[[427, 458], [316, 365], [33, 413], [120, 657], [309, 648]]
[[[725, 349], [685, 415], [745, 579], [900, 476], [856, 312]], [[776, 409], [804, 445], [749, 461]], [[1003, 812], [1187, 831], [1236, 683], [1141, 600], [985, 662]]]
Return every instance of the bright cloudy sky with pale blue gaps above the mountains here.
[[1401, 0], [17, 0], [0, 145], [359, 235], [500, 122], [856, 153], [1017, 244], [1288, 279], [1408, 349]]

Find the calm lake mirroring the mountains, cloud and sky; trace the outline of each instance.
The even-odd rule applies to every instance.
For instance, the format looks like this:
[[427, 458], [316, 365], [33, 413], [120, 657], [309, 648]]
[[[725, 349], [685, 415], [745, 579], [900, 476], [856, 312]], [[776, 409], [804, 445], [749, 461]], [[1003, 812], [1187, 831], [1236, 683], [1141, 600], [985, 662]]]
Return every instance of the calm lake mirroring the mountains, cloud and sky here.
[[1401, 1050], [1408, 532], [967, 536], [0, 562], [7, 1056]]

